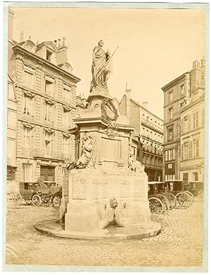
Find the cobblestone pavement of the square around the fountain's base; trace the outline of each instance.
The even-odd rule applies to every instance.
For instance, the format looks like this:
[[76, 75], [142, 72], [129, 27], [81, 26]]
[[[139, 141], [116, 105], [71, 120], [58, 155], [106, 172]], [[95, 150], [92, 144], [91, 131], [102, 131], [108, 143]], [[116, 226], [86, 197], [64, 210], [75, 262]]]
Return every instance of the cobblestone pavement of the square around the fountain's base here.
[[58, 208], [13, 206], [8, 202], [6, 264], [128, 267], [201, 267], [203, 203], [174, 209], [157, 222], [162, 232], [143, 240], [85, 241], [40, 234], [34, 224], [58, 217]]

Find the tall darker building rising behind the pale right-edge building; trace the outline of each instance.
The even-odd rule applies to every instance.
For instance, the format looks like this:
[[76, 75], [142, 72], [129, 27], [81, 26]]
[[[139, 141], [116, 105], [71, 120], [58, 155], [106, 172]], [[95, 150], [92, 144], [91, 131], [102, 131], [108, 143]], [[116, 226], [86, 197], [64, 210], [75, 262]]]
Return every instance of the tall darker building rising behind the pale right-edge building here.
[[201, 82], [205, 60], [193, 62], [185, 72], [162, 87], [164, 93], [164, 167], [163, 180], [181, 180], [181, 111], [191, 98], [191, 91]]

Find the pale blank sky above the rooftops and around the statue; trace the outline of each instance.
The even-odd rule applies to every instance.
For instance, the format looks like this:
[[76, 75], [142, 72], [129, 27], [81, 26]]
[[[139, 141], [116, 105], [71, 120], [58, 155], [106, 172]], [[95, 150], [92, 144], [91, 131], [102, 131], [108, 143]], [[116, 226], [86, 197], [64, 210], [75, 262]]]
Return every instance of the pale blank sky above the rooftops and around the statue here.
[[125, 85], [132, 98], [148, 102], [163, 118], [162, 86], [191, 70], [205, 56], [205, 11], [120, 8], [13, 8], [13, 38], [34, 43], [66, 38], [72, 74], [82, 79], [77, 94], [89, 94], [91, 55], [99, 39], [113, 53], [110, 95], [118, 100]]

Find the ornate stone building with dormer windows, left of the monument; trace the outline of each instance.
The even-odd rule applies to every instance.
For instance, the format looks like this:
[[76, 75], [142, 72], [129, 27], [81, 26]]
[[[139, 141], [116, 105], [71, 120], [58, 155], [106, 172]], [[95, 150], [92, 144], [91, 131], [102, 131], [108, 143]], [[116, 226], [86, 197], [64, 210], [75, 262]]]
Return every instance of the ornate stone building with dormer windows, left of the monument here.
[[[13, 40], [9, 11], [8, 72], [17, 100], [16, 182], [61, 184], [62, 170], [75, 159], [75, 140], [69, 133], [75, 118], [76, 86], [67, 61], [65, 39], [35, 44], [20, 34]], [[10, 115], [8, 115], [8, 118]], [[11, 118], [15, 123], [15, 117]]]

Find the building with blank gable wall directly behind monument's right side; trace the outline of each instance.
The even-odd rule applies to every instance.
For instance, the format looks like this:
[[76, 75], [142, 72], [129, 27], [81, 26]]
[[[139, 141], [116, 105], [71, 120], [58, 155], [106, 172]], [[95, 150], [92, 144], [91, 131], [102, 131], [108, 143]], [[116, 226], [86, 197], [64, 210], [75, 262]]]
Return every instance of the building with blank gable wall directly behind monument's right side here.
[[[131, 90], [126, 90], [120, 101], [120, 113], [127, 116], [135, 127], [133, 137], [138, 138], [134, 147], [136, 159], [145, 166], [148, 181], [162, 180], [163, 121], [148, 111], [147, 102], [142, 105], [131, 98]], [[134, 138], [135, 140], [135, 138]]]

